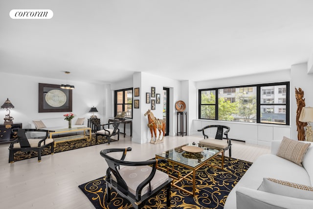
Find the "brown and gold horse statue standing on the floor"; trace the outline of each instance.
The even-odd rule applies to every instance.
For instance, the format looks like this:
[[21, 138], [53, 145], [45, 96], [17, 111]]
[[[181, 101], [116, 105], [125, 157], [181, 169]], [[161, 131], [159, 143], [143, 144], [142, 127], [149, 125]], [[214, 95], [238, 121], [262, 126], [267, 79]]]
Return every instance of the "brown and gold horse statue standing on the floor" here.
[[[151, 132], [151, 140], [150, 143], [156, 144], [156, 143], [161, 143], [163, 142], [164, 136], [165, 136], [165, 126], [166, 123], [163, 119], [157, 119], [153, 113], [151, 112], [150, 109], [145, 113], [144, 116], [148, 115], [148, 128], [150, 129]], [[156, 139], [156, 129], [159, 132], [158, 139]], [[161, 139], [161, 130], [163, 132], [163, 136]], [[155, 133], [155, 138], [153, 138], [153, 133]]]

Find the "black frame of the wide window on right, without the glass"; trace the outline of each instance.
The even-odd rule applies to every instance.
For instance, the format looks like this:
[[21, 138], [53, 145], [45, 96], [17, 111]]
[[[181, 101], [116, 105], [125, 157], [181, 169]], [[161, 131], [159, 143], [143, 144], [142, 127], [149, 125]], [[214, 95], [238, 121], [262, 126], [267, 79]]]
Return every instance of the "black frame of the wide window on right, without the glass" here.
[[[261, 103], [261, 95], [268, 95], [268, 94], [263, 94], [263, 91], [261, 92], [262, 87], [269, 87], [269, 86], [281, 86], [281, 85], [286, 85], [286, 103]], [[219, 99], [219, 91], [222, 89], [229, 89], [229, 88], [249, 88], [249, 87], [256, 87], [256, 123], [260, 124], [278, 124], [278, 125], [290, 125], [290, 82], [278, 82], [278, 83], [264, 83], [264, 84], [254, 84], [254, 85], [244, 85], [244, 86], [231, 86], [231, 87], [219, 87], [219, 88], [210, 88], [210, 89], [199, 89], [198, 90], [198, 118], [199, 119], [205, 119], [205, 120], [219, 120], [219, 104], [218, 104], [218, 99]], [[274, 88], [275, 89], [275, 88]], [[208, 105], [208, 104], [201, 104], [201, 92], [203, 91], [215, 91], [215, 118], [214, 119], [208, 119], [208, 118], [201, 118], [201, 106], [203, 105]], [[272, 94], [270, 94], [272, 95]], [[263, 98], [262, 98], [263, 99]], [[210, 104], [212, 105], [212, 104]], [[264, 106], [286, 106], [286, 124], [281, 124], [281, 123], [265, 123], [261, 122], [261, 106], [264, 108]], [[228, 120], [225, 120], [228, 121]], [[238, 122], [238, 121], [229, 121], [229, 122]]]

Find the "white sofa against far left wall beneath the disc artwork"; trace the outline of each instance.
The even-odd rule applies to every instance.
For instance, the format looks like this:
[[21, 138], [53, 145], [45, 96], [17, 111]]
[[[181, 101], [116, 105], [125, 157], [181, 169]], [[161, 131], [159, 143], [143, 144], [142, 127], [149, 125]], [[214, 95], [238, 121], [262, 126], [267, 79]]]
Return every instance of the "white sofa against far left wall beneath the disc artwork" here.
[[[72, 128], [75, 127], [87, 127], [87, 119], [85, 117], [77, 117], [72, 119]], [[68, 128], [68, 121], [64, 119], [64, 117], [56, 117], [56, 118], [46, 118], [46, 119], [38, 119], [32, 120], [29, 122], [31, 129], [44, 129], [44, 130], [56, 130], [56, 129], [64, 129]], [[36, 125], [35, 125], [36, 124]], [[30, 137], [38, 138], [44, 137], [44, 135], [40, 132], [32, 132]]]

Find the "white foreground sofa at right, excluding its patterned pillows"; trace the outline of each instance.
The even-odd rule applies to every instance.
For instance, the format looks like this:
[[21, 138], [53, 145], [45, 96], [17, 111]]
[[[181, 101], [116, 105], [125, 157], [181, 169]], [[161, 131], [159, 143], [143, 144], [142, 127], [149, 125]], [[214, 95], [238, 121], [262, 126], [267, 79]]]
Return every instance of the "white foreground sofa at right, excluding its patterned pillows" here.
[[280, 143], [272, 141], [271, 154], [258, 157], [250, 166], [230, 191], [224, 209], [313, 209], [313, 200], [258, 190], [263, 178], [313, 186], [313, 143], [304, 156], [303, 167], [276, 156]]

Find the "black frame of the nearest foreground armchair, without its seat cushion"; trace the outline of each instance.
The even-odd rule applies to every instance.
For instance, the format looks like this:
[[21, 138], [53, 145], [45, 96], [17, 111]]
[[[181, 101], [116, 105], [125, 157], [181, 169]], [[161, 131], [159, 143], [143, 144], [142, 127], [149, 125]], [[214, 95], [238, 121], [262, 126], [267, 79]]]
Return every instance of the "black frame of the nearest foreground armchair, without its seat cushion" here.
[[[149, 161], [142, 161], [142, 162], [128, 162], [124, 161], [126, 157], [127, 151], [131, 151], [132, 148], [128, 147], [126, 149], [122, 148], [113, 148], [113, 149], [104, 149], [100, 151], [100, 155], [105, 158], [106, 162], [109, 165], [106, 173], [106, 188], [107, 188], [107, 203], [111, 202], [111, 188], [113, 188], [119, 195], [123, 198], [129, 200], [135, 209], [141, 209], [145, 203], [153, 196], [155, 196], [160, 190], [166, 187], [166, 206], [167, 208], [170, 207], [170, 191], [171, 191], [171, 181], [172, 179], [169, 178], [167, 182], [163, 183], [162, 185], [158, 186], [155, 190], [151, 190], [150, 182], [153, 179], [156, 173], [157, 163], [166, 162], [165, 159], [158, 159], [158, 160], [149, 160]], [[111, 152], [123, 152], [121, 160], [117, 160], [112, 158], [111, 156], [107, 155], [107, 153]], [[142, 166], [142, 165], [152, 165], [152, 171], [150, 175], [145, 179], [143, 182], [139, 184], [136, 189], [135, 195], [129, 192], [128, 186], [126, 182], [121, 177], [120, 173], [118, 172], [120, 165], [126, 166]], [[116, 178], [116, 181], [112, 180], [111, 174], [113, 174]], [[143, 195], [141, 195], [141, 191], [144, 186], [149, 184], [149, 191]]]

